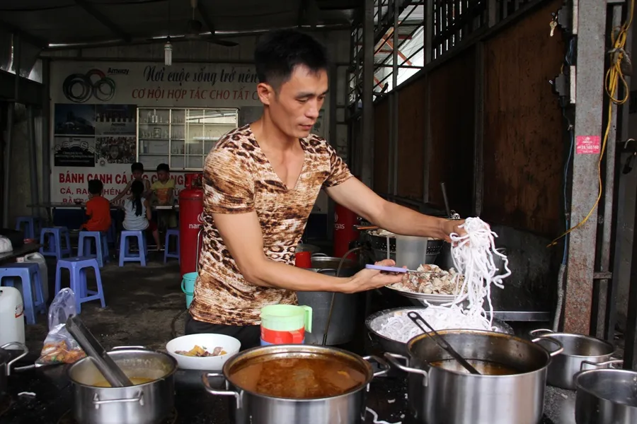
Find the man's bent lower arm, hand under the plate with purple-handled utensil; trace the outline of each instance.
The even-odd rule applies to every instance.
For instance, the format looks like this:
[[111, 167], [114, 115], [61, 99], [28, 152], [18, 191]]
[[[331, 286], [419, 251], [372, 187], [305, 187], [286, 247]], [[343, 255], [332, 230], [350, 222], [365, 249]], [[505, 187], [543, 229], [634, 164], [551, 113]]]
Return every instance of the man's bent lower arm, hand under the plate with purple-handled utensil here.
[[[212, 216], [239, 271], [254, 285], [296, 291], [356, 293], [401, 281], [402, 276], [372, 269], [360, 271], [351, 278], [336, 278], [272, 261], [263, 254], [263, 235], [256, 212], [213, 213]], [[394, 261], [381, 261], [380, 264], [393, 266]]]

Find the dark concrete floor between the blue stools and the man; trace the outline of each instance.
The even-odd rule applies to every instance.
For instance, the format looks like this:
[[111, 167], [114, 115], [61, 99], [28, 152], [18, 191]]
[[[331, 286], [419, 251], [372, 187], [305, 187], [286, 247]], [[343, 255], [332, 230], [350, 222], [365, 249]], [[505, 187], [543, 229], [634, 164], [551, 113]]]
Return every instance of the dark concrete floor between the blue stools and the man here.
[[[98, 300], [82, 304], [80, 317], [103, 343], [115, 346], [147, 346], [164, 350], [171, 336], [173, 319], [185, 311], [185, 295], [181, 291], [179, 265], [176, 259], [163, 264], [163, 254], [151, 252], [146, 267], [114, 261], [101, 269], [106, 307]], [[47, 260], [50, 300], [54, 295], [55, 261]], [[95, 279], [89, 272], [88, 287]], [[68, 274], [62, 274], [62, 287], [68, 287]], [[183, 334], [182, 314], [174, 323], [178, 336]], [[35, 325], [26, 326], [26, 344], [31, 352], [42, 350], [47, 335], [47, 317], [38, 316]]]

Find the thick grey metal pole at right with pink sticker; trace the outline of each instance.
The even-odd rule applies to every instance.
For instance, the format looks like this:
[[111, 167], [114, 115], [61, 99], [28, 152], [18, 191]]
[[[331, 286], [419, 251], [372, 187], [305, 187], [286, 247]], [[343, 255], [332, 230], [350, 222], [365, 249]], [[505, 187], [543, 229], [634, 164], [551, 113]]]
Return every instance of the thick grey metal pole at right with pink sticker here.
[[[601, 139], [606, 9], [606, 2], [599, 0], [578, 0], [573, 5], [578, 25], [586, 28], [578, 35], [575, 64], [576, 143], [586, 140], [586, 137], [592, 143]], [[574, 30], [577, 32], [576, 26]], [[572, 223], [583, 220], [595, 204], [598, 160], [599, 154], [575, 154], [570, 206]], [[590, 331], [596, 231], [597, 210], [594, 210], [587, 222], [570, 235], [564, 298], [564, 331], [569, 333], [588, 334]]]

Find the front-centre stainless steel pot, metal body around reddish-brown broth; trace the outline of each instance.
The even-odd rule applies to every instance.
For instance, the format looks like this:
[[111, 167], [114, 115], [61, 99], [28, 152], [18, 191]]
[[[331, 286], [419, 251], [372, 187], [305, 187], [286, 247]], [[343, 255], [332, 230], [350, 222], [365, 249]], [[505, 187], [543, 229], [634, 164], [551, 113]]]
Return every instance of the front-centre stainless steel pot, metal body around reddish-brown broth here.
[[[263, 396], [239, 387], [231, 381], [233, 370], [252, 361], [268, 357], [276, 358], [320, 358], [336, 357], [349, 366], [364, 372], [365, 382], [360, 387], [340, 396], [323, 399], [282, 399]], [[378, 372], [372, 370], [369, 360], [381, 365]], [[337, 348], [309, 345], [278, 345], [248, 349], [230, 358], [225, 364], [223, 374], [209, 372], [202, 376], [203, 384], [210, 394], [230, 396], [231, 420], [234, 424], [357, 424], [365, 418], [365, 397], [367, 385], [374, 377], [384, 375], [389, 367], [375, 356], [361, 358], [354, 353]], [[223, 377], [225, 389], [215, 389], [210, 385], [211, 377]]]

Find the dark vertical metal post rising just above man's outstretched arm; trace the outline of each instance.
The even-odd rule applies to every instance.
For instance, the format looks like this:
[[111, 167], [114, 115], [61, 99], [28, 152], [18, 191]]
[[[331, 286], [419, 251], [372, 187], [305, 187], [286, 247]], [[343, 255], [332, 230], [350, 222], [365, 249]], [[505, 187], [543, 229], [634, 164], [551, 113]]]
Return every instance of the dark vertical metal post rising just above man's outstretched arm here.
[[372, 187], [374, 179], [374, 0], [365, 0], [363, 16], [363, 84], [361, 179]]

